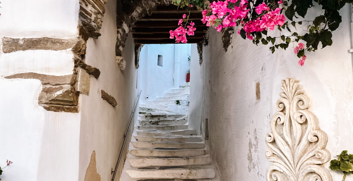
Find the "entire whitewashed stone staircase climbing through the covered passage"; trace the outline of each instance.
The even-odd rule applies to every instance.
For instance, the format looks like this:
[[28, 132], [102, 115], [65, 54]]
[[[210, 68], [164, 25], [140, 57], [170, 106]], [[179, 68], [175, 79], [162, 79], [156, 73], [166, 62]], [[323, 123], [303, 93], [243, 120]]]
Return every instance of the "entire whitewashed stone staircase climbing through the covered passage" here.
[[214, 181], [204, 139], [188, 126], [189, 92], [186, 84], [140, 104], [120, 181]]

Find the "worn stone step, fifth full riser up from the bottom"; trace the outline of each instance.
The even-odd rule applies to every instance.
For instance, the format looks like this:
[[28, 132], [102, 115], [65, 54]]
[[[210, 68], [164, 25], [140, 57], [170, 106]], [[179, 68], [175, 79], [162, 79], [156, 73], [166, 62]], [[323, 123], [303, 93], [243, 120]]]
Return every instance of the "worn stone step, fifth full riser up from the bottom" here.
[[179, 142], [199, 142], [202, 141], [201, 136], [183, 136], [183, 137], [143, 137], [134, 136], [136, 141], [179, 141]]

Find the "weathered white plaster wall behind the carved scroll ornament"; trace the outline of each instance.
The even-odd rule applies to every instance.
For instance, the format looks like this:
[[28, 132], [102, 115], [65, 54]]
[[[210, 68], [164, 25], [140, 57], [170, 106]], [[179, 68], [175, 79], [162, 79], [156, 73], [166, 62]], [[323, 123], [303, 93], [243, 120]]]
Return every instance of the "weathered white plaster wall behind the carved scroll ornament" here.
[[[327, 149], [332, 159], [342, 150], [353, 152], [353, 72], [351, 46], [351, 10], [341, 10], [342, 23], [333, 33], [333, 45], [307, 53], [303, 67], [293, 47], [271, 54], [267, 46], [252, 44], [233, 36], [228, 52], [223, 53], [221, 34], [209, 32], [209, 44], [203, 49], [203, 121], [209, 120], [211, 153], [220, 172], [220, 180], [265, 181], [265, 135], [275, 102], [280, 98], [281, 80], [300, 80], [311, 98], [310, 110], [318, 117], [328, 135]], [[309, 18], [310, 19], [310, 18]], [[296, 46], [296, 45], [294, 45]], [[261, 99], [256, 101], [255, 83], [260, 81]], [[329, 164], [325, 164], [329, 169]], [[331, 171], [333, 180], [342, 174]], [[351, 176], [348, 176], [351, 177]]]

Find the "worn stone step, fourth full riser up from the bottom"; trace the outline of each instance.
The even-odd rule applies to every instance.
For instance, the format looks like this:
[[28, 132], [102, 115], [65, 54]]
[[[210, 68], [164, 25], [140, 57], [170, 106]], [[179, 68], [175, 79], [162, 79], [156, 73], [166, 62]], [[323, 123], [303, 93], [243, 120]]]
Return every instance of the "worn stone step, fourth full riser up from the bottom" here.
[[203, 142], [142, 142], [131, 141], [135, 148], [178, 148], [178, 149], [201, 149], [205, 147]]

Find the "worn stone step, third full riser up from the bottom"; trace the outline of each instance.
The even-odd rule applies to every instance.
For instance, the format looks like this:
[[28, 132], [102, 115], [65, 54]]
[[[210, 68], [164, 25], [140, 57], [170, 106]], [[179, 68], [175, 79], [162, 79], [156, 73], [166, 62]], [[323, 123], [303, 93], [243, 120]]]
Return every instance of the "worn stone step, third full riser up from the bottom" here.
[[205, 149], [133, 149], [129, 152], [137, 157], [191, 157], [207, 154]]

